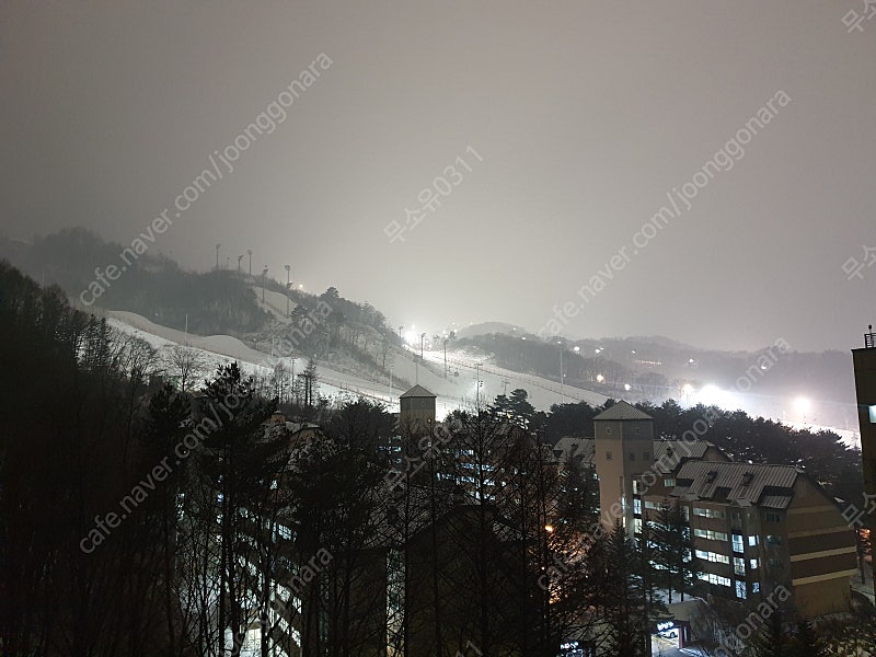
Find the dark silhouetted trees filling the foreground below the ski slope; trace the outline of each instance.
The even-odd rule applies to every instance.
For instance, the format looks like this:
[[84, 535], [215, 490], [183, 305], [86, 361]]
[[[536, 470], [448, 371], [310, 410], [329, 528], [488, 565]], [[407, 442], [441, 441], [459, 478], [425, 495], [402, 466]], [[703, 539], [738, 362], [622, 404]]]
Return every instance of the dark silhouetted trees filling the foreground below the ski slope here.
[[[583, 636], [637, 657], [656, 591], [696, 590], [671, 508], [645, 523], [654, 541], [604, 531], [592, 479], [545, 449], [592, 435], [611, 401], [539, 413], [517, 390], [424, 436], [237, 365], [186, 391], [149, 345], [5, 263], [0, 366], [18, 374], [0, 406], [3, 655], [546, 657]], [[703, 413], [644, 410], [664, 436]], [[855, 475], [835, 437], [714, 417], [705, 438], [737, 458], [799, 462], [837, 494]], [[802, 631], [780, 638], [814, 654]]]

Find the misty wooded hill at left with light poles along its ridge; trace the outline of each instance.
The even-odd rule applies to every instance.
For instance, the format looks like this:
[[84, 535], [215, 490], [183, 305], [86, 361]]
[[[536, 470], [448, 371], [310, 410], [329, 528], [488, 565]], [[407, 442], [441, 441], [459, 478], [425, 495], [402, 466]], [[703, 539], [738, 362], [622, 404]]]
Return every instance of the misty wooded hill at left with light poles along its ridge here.
[[87, 312], [128, 311], [196, 335], [230, 335], [374, 381], [390, 378], [392, 354], [401, 353], [382, 312], [343, 298], [334, 287], [315, 296], [237, 269], [188, 272], [145, 243], [135, 253], [84, 228], [33, 243], [0, 238], [3, 260], [44, 286], [57, 285]]

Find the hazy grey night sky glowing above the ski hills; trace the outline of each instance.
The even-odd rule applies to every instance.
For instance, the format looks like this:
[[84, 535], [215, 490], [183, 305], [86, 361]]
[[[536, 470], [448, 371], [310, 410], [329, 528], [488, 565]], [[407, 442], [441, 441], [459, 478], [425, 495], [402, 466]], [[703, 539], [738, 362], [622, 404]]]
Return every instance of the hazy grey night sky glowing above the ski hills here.
[[[252, 249], [254, 272], [285, 281], [289, 263], [395, 325], [550, 333], [558, 304], [578, 336], [857, 347], [876, 266], [843, 265], [876, 247], [876, 18], [849, 33], [850, 10], [863, 2], [5, 1], [0, 221], [127, 244], [168, 208], [151, 249], [184, 266]], [[268, 110], [286, 119], [247, 136]], [[237, 152], [233, 172], [215, 157], [222, 178], [175, 217], [215, 151]], [[406, 209], [423, 220], [391, 243]]]

